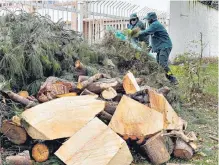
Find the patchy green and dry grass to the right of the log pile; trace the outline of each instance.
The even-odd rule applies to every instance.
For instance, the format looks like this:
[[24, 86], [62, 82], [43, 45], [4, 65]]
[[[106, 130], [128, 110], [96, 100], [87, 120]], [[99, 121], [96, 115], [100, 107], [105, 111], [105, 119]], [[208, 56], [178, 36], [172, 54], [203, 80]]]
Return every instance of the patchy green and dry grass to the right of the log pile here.
[[[186, 84], [182, 83], [185, 78], [182, 66], [171, 66], [171, 69], [179, 80], [181, 91], [186, 90]], [[208, 97], [198, 104], [179, 105], [175, 109], [177, 114], [188, 122], [187, 131], [194, 131], [197, 134], [200, 149], [189, 161], [172, 157], [168, 163], [193, 165], [218, 164], [218, 142], [209, 138], [209, 136], [218, 137], [218, 64], [208, 64], [204, 74], [209, 76], [208, 83], [204, 88], [204, 92]], [[144, 160], [141, 163], [133, 163], [133, 165], [150, 165], [150, 163]]]

